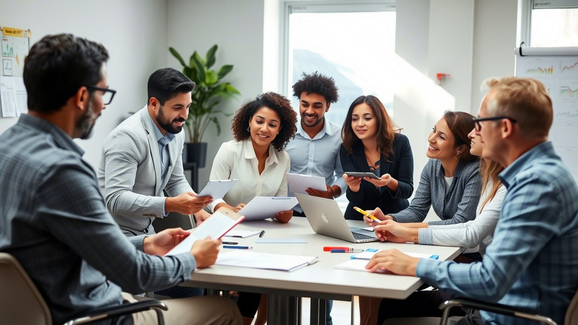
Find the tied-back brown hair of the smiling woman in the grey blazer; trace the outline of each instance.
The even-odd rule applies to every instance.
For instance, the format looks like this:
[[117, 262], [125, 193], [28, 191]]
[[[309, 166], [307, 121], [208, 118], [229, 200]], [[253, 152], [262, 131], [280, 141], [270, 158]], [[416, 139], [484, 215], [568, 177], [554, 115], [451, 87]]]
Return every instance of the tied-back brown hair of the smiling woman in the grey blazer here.
[[463, 161], [476, 161], [479, 157], [474, 156], [469, 152], [472, 149], [470, 145], [470, 139], [468, 138], [469, 132], [472, 132], [474, 128], [473, 115], [466, 112], [453, 112], [451, 110], [446, 110], [443, 113], [443, 118], [446, 120], [447, 127], [450, 128], [451, 134], [454, 135], [454, 146], [465, 145], [466, 150], [458, 154], [455, 158]]

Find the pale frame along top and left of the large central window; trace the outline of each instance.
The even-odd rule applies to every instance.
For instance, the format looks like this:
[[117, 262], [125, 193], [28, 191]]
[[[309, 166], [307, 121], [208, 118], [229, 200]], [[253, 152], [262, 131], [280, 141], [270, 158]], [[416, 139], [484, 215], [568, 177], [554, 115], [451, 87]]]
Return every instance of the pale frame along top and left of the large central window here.
[[395, 0], [360, 0], [335, 1], [284, 1], [281, 10], [280, 31], [280, 55], [279, 55], [279, 86], [280, 94], [290, 97], [288, 94], [290, 75], [289, 69], [289, 16], [292, 13], [347, 13], [347, 12], [395, 12]]

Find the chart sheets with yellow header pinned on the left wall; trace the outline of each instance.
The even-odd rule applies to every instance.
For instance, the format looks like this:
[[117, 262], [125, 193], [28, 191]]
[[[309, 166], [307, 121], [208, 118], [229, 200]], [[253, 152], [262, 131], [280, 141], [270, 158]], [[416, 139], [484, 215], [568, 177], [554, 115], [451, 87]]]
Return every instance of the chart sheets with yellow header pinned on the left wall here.
[[22, 75], [24, 59], [30, 50], [30, 31], [1, 27], [2, 74], [0, 105], [2, 117], [16, 117], [28, 111], [26, 88]]

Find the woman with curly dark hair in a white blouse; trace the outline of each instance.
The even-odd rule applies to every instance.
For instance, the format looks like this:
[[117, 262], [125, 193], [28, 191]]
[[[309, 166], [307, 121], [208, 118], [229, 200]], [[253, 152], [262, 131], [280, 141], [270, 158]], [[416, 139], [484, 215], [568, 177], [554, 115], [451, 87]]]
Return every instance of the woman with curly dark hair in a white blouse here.
[[[287, 196], [289, 154], [283, 151], [297, 131], [297, 113], [289, 100], [276, 93], [258, 95], [235, 113], [231, 128], [235, 140], [221, 145], [213, 160], [210, 179], [239, 179], [223, 199], [209, 204], [238, 211], [256, 196]], [[272, 216], [286, 223], [292, 210]]]

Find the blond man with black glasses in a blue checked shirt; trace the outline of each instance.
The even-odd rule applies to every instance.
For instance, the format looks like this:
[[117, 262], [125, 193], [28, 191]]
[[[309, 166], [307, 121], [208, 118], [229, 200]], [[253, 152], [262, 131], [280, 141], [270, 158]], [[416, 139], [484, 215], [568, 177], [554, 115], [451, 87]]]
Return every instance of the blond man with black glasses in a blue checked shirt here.
[[[507, 194], [483, 261], [420, 260], [387, 250], [366, 268], [418, 276], [455, 296], [532, 309], [563, 324], [578, 289], [578, 186], [547, 141], [552, 102], [535, 79], [504, 77], [485, 84], [489, 91], [475, 119], [476, 133], [482, 156], [505, 167], [500, 179]], [[379, 235], [391, 237], [380, 228]], [[394, 308], [384, 301], [381, 318]], [[536, 322], [476, 311], [458, 324]]]

